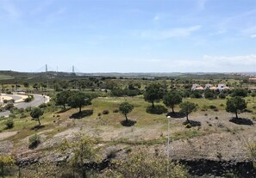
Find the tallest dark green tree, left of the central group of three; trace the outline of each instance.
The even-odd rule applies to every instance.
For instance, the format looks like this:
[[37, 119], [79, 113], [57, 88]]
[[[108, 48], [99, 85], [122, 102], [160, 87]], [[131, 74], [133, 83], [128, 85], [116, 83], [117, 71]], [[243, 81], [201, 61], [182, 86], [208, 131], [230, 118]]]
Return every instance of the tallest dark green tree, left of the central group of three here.
[[150, 84], [144, 92], [144, 100], [151, 102], [154, 107], [154, 101], [160, 101], [165, 94], [165, 90], [159, 83]]

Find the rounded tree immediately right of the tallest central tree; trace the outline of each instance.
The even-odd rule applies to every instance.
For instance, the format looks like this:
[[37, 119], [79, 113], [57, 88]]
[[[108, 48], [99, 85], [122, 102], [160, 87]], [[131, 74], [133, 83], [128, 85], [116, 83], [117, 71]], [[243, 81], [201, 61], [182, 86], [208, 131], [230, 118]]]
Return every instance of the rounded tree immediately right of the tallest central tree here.
[[178, 92], [169, 91], [164, 96], [164, 104], [166, 107], [172, 107], [172, 113], [174, 113], [174, 106], [182, 102], [182, 96]]

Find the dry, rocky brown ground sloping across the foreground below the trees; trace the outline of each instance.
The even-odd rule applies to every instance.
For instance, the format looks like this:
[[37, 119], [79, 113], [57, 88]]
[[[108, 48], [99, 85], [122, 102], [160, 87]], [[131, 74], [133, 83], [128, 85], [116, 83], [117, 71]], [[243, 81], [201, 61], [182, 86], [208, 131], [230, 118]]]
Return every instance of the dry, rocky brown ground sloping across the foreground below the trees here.
[[[65, 114], [63, 114], [65, 115]], [[63, 116], [60, 114], [60, 118]], [[240, 114], [243, 118], [240, 124], [230, 121], [232, 114], [226, 112], [212, 112], [209, 114], [197, 114], [190, 117], [195, 123], [200, 125], [192, 128], [184, 128], [185, 118], [171, 120], [171, 143], [170, 157], [172, 160], [179, 160], [193, 168], [190, 173], [195, 176], [204, 174], [220, 175], [222, 169], [238, 169], [244, 166], [250, 169], [251, 162], [247, 150], [247, 142], [256, 138], [256, 122], [247, 123], [248, 114]], [[101, 125], [74, 124], [76, 120], [62, 120], [59, 126], [68, 127], [64, 131], [59, 131], [53, 135], [53, 130], [38, 132], [42, 142], [34, 150], [28, 149], [28, 137], [22, 138], [18, 142], [11, 141], [14, 135], [19, 132], [0, 132], [0, 153], [12, 153], [18, 157], [22, 166], [37, 162], [58, 163], [66, 160], [66, 156], [56, 151], [63, 138], [72, 140], [76, 133], [82, 132], [99, 138], [102, 142], [103, 157], [107, 157], [110, 151], [123, 153], [126, 149], [136, 150], [138, 147], [145, 147], [152, 153], [156, 150], [165, 154], [167, 127], [165, 122], [157, 122], [153, 126], [117, 127]], [[103, 120], [97, 120], [103, 122]], [[140, 119], [137, 119], [140, 122]], [[192, 122], [193, 123], [193, 122]], [[187, 132], [188, 134], [184, 134]], [[109, 144], [115, 142], [115, 144]], [[18, 146], [17, 146], [18, 145]], [[47, 151], [46, 151], [47, 150]], [[118, 154], [117, 154], [118, 156]], [[123, 157], [123, 154], [119, 154]], [[118, 157], [117, 157], [118, 158]], [[195, 165], [201, 165], [197, 168]], [[231, 166], [230, 166], [231, 165]], [[239, 166], [240, 165], [240, 166]], [[207, 169], [207, 168], [212, 169]], [[250, 173], [252, 176], [255, 173]], [[256, 175], [255, 175], [256, 176]]]

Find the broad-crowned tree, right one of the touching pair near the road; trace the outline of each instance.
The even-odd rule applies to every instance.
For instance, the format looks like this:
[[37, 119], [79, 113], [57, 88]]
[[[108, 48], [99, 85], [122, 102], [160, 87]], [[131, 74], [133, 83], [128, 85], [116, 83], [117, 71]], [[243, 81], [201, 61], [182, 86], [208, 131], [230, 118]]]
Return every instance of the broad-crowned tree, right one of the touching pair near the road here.
[[91, 95], [85, 95], [82, 92], [73, 92], [68, 98], [68, 105], [72, 108], [79, 107], [79, 113], [82, 111], [82, 107], [91, 104]]

